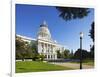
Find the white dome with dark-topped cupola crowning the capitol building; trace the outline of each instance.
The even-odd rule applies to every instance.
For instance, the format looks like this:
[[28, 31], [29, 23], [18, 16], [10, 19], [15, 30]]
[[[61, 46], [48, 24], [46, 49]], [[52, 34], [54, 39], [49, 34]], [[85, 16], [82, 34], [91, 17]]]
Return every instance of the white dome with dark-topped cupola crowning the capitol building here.
[[40, 25], [40, 29], [38, 32], [38, 39], [46, 39], [46, 40], [51, 39], [51, 34], [48, 29], [48, 25], [46, 24], [45, 21], [43, 22], [43, 24]]

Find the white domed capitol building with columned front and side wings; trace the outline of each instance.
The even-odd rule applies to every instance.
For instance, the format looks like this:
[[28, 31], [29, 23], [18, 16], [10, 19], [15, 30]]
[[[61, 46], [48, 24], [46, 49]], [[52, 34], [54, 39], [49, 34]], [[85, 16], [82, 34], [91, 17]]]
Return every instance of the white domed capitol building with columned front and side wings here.
[[60, 45], [57, 41], [52, 39], [50, 30], [45, 21], [42, 24], [40, 24], [39, 31], [37, 32], [37, 37], [35, 39], [22, 35], [17, 35], [17, 37], [20, 37], [23, 39], [23, 41], [27, 41], [29, 43], [36, 42], [38, 53], [46, 56], [45, 60], [56, 60], [56, 51], [64, 51], [64, 47]]

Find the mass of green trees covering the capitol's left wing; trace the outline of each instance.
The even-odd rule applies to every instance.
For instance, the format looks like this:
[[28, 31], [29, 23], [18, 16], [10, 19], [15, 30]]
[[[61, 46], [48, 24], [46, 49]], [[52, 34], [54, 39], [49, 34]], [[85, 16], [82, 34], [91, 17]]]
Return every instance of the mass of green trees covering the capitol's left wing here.
[[37, 43], [31, 41], [26, 42], [22, 38], [16, 36], [16, 59], [32, 59], [32, 60], [43, 60], [45, 56], [38, 54]]

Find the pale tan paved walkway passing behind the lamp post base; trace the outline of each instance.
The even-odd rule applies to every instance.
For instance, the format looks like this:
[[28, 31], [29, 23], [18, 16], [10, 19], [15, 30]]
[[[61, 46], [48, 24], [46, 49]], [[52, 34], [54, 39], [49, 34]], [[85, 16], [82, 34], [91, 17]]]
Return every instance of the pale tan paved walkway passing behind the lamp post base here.
[[[80, 64], [78, 63], [51, 63], [51, 64], [56, 64], [56, 65], [60, 65], [60, 66], [64, 66], [64, 67], [69, 67], [69, 68], [73, 68], [73, 69], [79, 69], [80, 68]], [[92, 65], [82, 65], [83, 69], [92, 69], [94, 68], [94, 66]]]

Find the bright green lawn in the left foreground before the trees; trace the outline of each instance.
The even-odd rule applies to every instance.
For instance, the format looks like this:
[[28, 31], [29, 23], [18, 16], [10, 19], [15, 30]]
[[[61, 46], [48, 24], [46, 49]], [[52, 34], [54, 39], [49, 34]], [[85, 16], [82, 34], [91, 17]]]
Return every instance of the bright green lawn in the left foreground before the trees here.
[[44, 63], [44, 62], [38, 62], [38, 61], [16, 62], [16, 73], [58, 71], [58, 70], [71, 70], [71, 68], [62, 67], [54, 64]]

